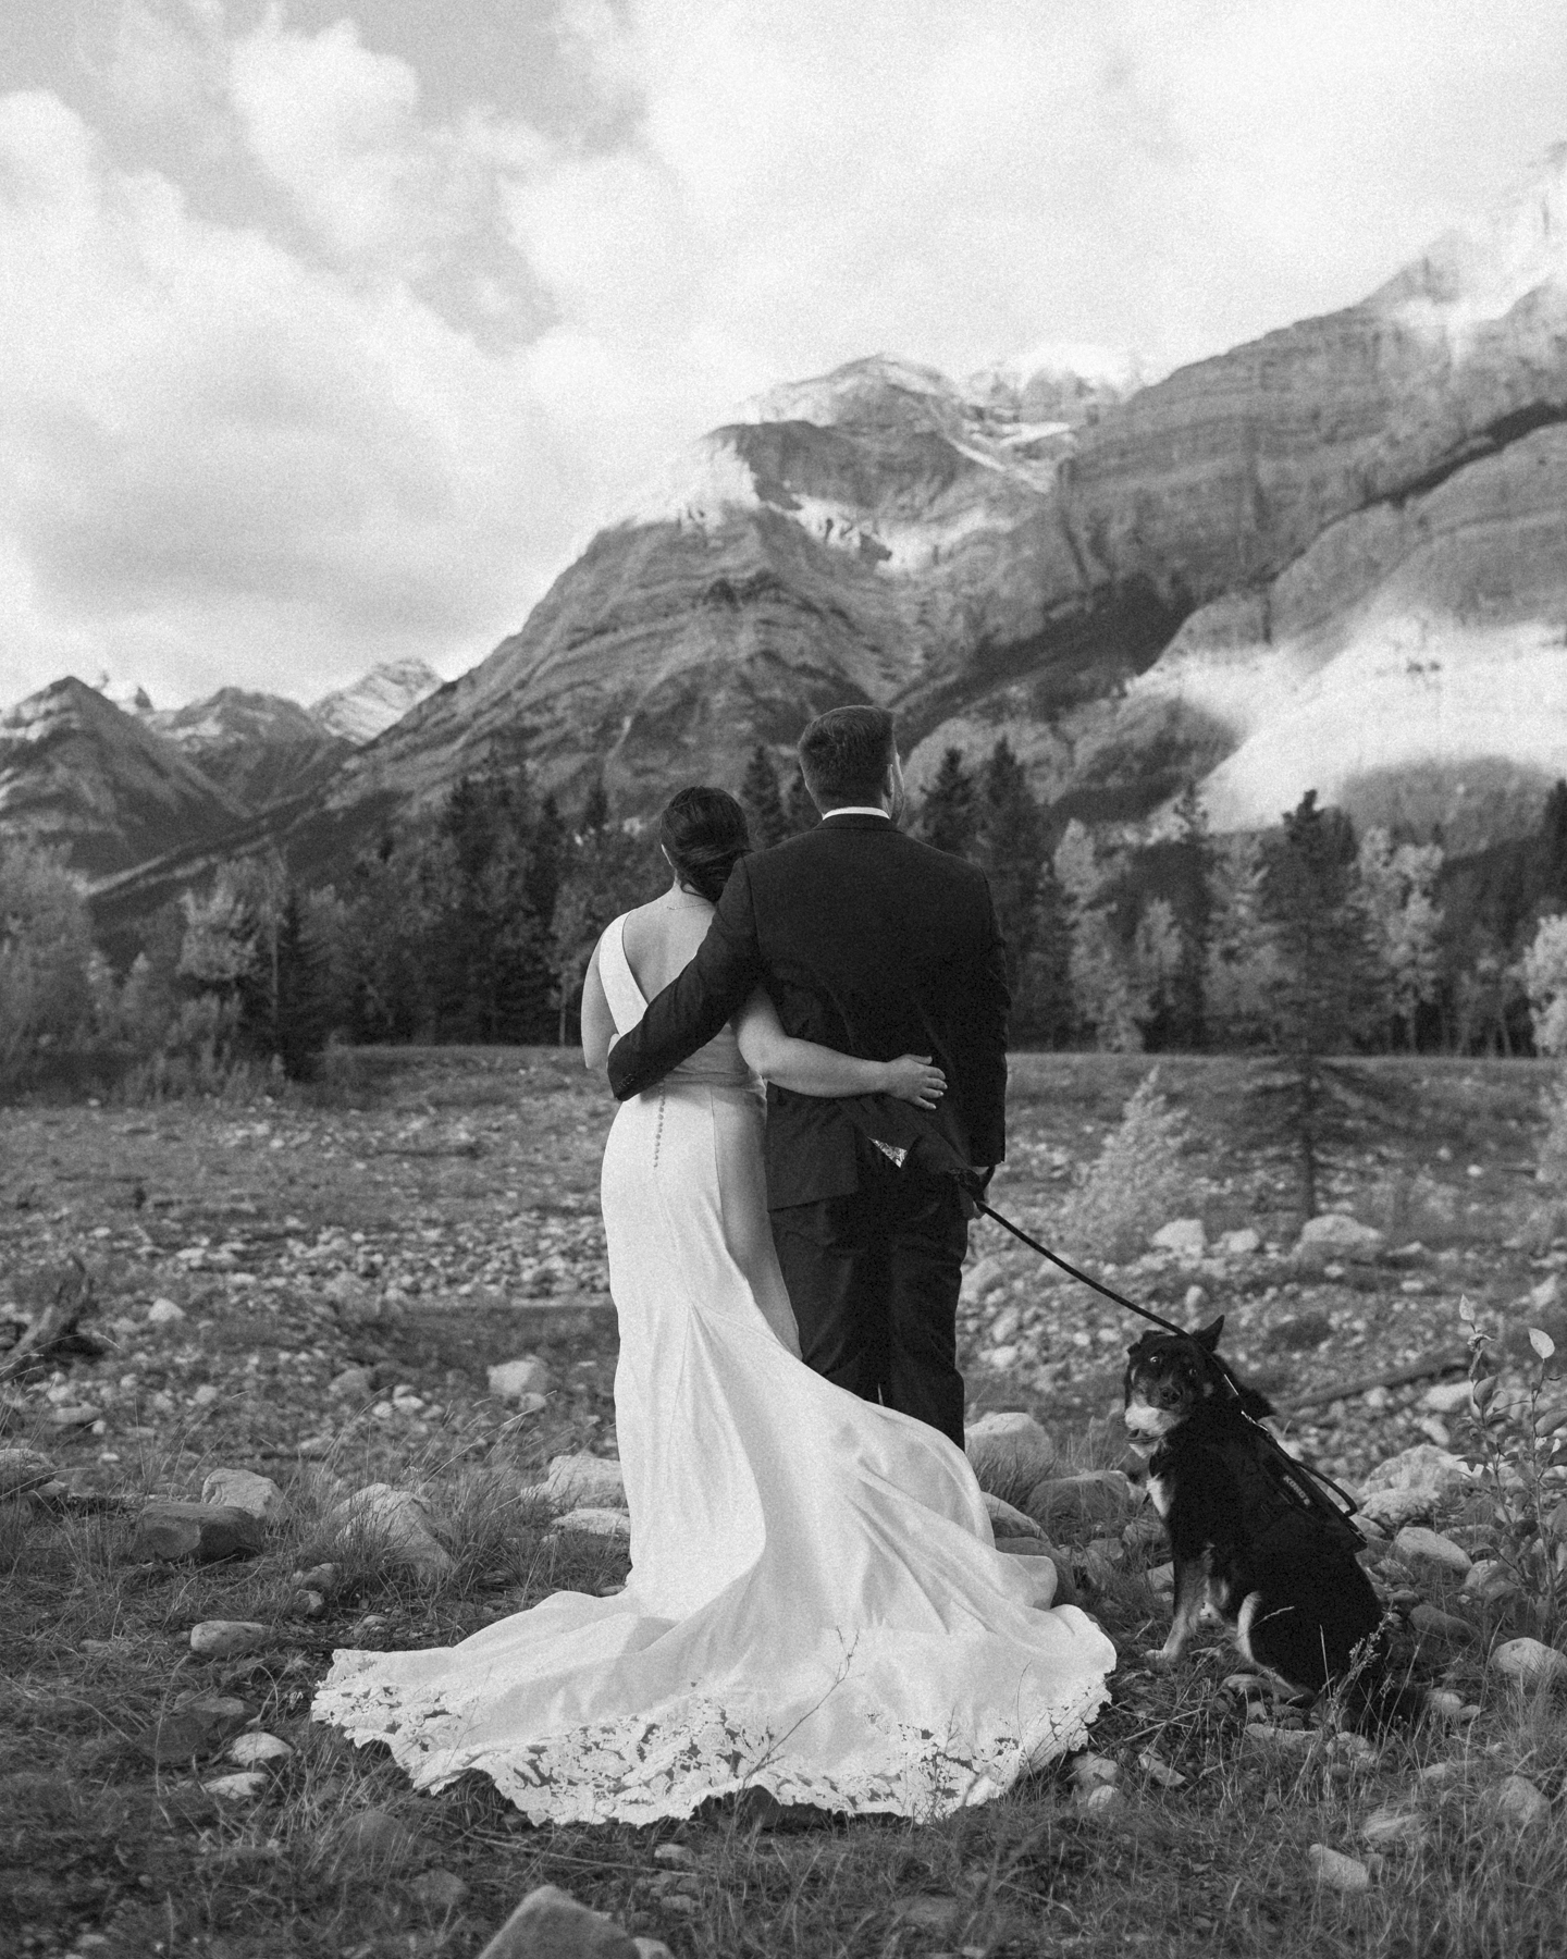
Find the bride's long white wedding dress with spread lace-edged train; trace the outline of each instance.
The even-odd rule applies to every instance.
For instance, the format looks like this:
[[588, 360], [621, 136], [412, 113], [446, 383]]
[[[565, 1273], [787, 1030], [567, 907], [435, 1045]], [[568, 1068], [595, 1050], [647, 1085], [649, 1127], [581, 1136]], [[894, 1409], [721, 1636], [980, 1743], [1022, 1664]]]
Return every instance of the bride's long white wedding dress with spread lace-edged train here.
[[[599, 976], [644, 1011], [615, 921]], [[1079, 1747], [1115, 1648], [995, 1550], [962, 1450], [811, 1373], [768, 1228], [762, 1121], [725, 1032], [603, 1152], [631, 1581], [454, 1648], [341, 1651], [313, 1716], [421, 1789], [470, 1769], [535, 1822], [644, 1824], [764, 1787], [930, 1818]]]

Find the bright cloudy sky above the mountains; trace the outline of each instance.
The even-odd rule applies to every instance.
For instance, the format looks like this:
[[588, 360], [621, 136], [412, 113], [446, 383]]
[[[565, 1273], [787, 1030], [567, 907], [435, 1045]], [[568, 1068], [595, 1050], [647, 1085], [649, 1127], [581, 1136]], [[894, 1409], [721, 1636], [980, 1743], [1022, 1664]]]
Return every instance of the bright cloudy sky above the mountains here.
[[1169, 366], [1561, 139], [1557, 0], [4, 0], [0, 705], [452, 676], [758, 388]]

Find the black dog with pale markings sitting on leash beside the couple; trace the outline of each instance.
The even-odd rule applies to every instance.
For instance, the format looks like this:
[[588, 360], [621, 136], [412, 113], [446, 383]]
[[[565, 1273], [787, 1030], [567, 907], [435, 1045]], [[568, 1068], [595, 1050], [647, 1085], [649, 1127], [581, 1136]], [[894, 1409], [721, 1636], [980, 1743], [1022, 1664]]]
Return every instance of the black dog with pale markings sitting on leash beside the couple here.
[[1271, 1403], [1216, 1358], [1222, 1330], [1220, 1316], [1126, 1350], [1124, 1422], [1148, 1454], [1175, 1563], [1175, 1618], [1150, 1659], [1175, 1665], [1209, 1606], [1246, 1661], [1293, 1695], [1348, 1687], [1361, 1712], [1410, 1714], [1416, 1700], [1389, 1679], [1383, 1610], [1355, 1561], [1359, 1534], [1281, 1491], [1254, 1428]]

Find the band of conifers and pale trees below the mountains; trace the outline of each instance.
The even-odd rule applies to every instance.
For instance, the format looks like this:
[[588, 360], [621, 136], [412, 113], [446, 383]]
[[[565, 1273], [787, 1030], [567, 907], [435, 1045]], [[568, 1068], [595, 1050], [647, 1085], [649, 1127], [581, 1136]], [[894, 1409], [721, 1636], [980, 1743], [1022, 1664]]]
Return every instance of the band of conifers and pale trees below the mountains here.
[[[817, 823], [764, 748], [738, 795], [758, 848]], [[1019, 1046], [1567, 1052], [1567, 784], [1534, 836], [1449, 866], [1314, 795], [1263, 835], [1212, 836], [1195, 789], [1156, 825], [1062, 827], [999, 741], [950, 748], [905, 823], [987, 872]], [[71, 1056], [174, 1087], [304, 1079], [329, 1040], [564, 1044], [599, 932], [666, 878], [654, 829], [615, 821], [601, 786], [562, 811], [496, 762], [333, 885], [225, 866], [116, 968], [80, 882], [10, 842], [0, 1079]]]

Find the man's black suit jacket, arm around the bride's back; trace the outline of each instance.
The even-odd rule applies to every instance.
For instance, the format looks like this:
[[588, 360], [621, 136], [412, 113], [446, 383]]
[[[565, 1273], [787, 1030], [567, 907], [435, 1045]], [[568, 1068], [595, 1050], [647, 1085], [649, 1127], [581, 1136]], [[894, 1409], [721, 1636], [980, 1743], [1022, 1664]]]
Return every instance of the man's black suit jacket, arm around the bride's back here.
[[1007, 972], [983, 872], [885, 817], [827, 817], [740, 858], [691, 964], [609, 1050], [625, 1101], [709, 1042], [764, 985], [785, 1034], [860, 1060], [930, 1054], [934, 1113], [885, 1097], [827, 1101], [768, 1089], [768, 1205], [860, 1187], [856, 1136], [925, 1136], [915, 1162], [1005, 1156]]

